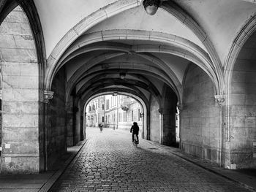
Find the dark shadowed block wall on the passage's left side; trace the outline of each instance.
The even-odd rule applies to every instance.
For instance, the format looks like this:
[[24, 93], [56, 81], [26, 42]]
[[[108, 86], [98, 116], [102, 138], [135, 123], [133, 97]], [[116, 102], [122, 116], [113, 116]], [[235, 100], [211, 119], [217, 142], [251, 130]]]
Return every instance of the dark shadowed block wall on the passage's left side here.
[[67, 151], [66, 111], [65, 111], [65, 75], [61, 68], [53, 79], [53, 99], [48, 104], [47, 153], [48, 169]]

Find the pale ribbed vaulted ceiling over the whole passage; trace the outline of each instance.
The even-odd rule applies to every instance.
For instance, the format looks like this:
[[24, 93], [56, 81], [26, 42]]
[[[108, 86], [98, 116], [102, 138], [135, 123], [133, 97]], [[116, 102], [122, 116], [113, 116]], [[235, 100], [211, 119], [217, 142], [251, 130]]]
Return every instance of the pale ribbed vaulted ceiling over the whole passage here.
[[65, 66], [67, 96], [75, 89], [82, 97], [118, 89], [149, 99], [166, 84], [181, 99], [191, 63], [221, 91], [230, 47], [256, 11], [249, 0], [170, 0], [152, 16], [137, 0], [34, 3], [45, 39], [49, 86]]

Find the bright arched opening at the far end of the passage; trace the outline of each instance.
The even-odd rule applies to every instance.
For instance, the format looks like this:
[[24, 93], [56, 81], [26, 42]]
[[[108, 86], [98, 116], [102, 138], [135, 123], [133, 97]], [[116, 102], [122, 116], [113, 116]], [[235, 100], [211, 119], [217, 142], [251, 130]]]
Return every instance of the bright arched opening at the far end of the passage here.
[[[84, 128], [100, 127], [129, 132], [133, 122], [140, 128], [140, 138], [146, 138], [147, 104], [130, 93], [100, 93], [84, 104]], [[95, 119], [97, 118], [97, 119]]]

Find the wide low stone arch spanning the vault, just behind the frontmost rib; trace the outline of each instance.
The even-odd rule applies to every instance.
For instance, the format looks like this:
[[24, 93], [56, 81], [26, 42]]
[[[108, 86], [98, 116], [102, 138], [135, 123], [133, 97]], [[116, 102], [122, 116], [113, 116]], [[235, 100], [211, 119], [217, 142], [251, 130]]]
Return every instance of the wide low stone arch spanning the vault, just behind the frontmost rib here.
[[[104, 39], [108, 40], [116, 40], [116, 39], [138, 39], [141, 40], [150, 40], [150, 41], [157, 41], [163, 44], [169, 44], [170, 47], [161, 45], [161, 46], [154, 46], [154, 47], [140, 47], [140, 46], [133, 46], [130, 49], [127, 49], [127, 52], [135, 52], [135, 53], [168, 53], [177, 55], [182, 58], [186, 58], [189, 61], [194, 62], [195, 64], [199, 65], [208, 75], [212, 78], [212, 80], [216, 83], [217, 91], [219, 90], [219, 80], [217, 77], [216, 72], [214, 72], [214, 66], [211, 62], [211, 59], [208, 57], [208, 53], [206, 53], [203, 49], [198, 47], [192, 42], [189, 42], [187, 39], [177, 37], [171, 34], [164, 34], [159, 32], [152, 32], [152, 31], [130, 31], [130, 30], [110, 30], [110, 31], [99, 31], [94, 32], [88, 35], [83, 36], [83, 40], [79, 40], [78, 44], [72, 45], [69, 49], [65, 52], [62, 56], [60, 61], [64, 61], [63, 59], [66, 58], [68, 55], [72, 54], [76, 50], [80, 49], [80, 47], [84, 47], [91, 43], [95, 42], [102, 42]], [[95, 47], [94, 47], [95, 49]], [[124, 50], [120, 48], [120, 50]], [[88, 51], [88, 50], [86, 50]], [[116, 53], [117, 54], [117, 53]], [[122, 54], [122, 53], [119, 53]], [[52, 74], [59, 69], [59, 66], [63, 65], [62, 63], [57, 62], [58, 66], [50, 66], [48, 71], [46, 72], [46, 83], [47, 87], [50, 89], [51, 79], [53, 77]]]

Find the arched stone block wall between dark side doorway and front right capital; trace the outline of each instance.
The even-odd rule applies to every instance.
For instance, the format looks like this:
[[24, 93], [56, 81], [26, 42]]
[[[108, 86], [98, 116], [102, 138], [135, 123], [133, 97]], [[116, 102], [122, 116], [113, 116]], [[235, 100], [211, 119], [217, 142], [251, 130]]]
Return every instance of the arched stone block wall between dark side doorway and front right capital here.
[[198, 66], [191, 64], [184, 82], [181, 111], [181, 149], [219, 162], [220, 113], [214, 100], [214, 84]]

